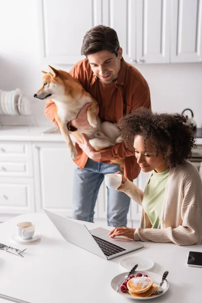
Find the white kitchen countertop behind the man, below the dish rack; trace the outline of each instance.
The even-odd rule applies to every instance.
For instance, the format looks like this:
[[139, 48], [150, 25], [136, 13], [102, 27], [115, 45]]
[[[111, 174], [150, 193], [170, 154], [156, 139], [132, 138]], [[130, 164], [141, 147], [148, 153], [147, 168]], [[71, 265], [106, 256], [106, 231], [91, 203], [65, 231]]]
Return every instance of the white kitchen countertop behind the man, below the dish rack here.
[[[51, 129], [50, 127], [40, 126], [3, 126], [0, 127], [0, 141], [55, 141], [64, 142], [64, 138], [60, 133], [44, 133], [42, 132]], [[54, 128], [53, 128], [54, 129]], [[55, 128], [57, 129], [57, 128]], [[74, 137], [72, 136], [74, 141]], [[196, 144], [202, 145], [202, 138], [196, 138]]]

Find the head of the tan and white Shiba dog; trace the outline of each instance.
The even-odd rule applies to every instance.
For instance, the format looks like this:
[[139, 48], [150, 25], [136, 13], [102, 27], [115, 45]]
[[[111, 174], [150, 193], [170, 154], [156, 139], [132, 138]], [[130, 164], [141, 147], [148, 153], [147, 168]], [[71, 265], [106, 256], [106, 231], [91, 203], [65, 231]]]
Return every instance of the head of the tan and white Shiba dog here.
[[66, 72], [57, 70], [51, 66], [49, 66], [49, 69], [48, 73], [42, 71], [44, 74], [42, 86], [34, 94], [34, 97], [37, 99], [44, 100], [51, 98], [57, 100], [64, 96], [64, 82], [62, 79], [64, 77], [63, 73]]

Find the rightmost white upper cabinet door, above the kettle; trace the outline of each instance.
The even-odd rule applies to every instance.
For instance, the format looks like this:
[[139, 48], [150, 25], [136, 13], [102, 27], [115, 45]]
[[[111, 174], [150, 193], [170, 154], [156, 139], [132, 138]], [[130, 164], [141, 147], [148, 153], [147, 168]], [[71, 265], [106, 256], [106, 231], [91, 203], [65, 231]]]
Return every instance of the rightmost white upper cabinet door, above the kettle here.
[[201, 62], [201, 19], [201, 0], [172, 0], [171, 62]]

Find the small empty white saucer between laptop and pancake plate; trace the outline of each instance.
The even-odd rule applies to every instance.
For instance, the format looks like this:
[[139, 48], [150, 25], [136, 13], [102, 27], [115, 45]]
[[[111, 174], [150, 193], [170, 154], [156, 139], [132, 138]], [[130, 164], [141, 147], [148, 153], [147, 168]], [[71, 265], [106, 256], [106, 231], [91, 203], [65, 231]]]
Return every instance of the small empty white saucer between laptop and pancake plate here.
[[154, 266], [154, 262], [148, 258], [140, 256], [131, 256], [121, 259], [119, 264], [128, 270], [130, 270], [135, 264], [138, 264], [138, 270], [147, 270]]

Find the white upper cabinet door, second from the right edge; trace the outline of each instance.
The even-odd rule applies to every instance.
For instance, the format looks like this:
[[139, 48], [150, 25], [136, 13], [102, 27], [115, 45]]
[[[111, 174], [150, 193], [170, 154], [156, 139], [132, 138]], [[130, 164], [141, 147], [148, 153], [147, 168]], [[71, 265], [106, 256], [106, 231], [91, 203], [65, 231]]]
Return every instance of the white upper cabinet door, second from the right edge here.
[[137, 62], [169, 63], [170, 0], [137, 0]]

